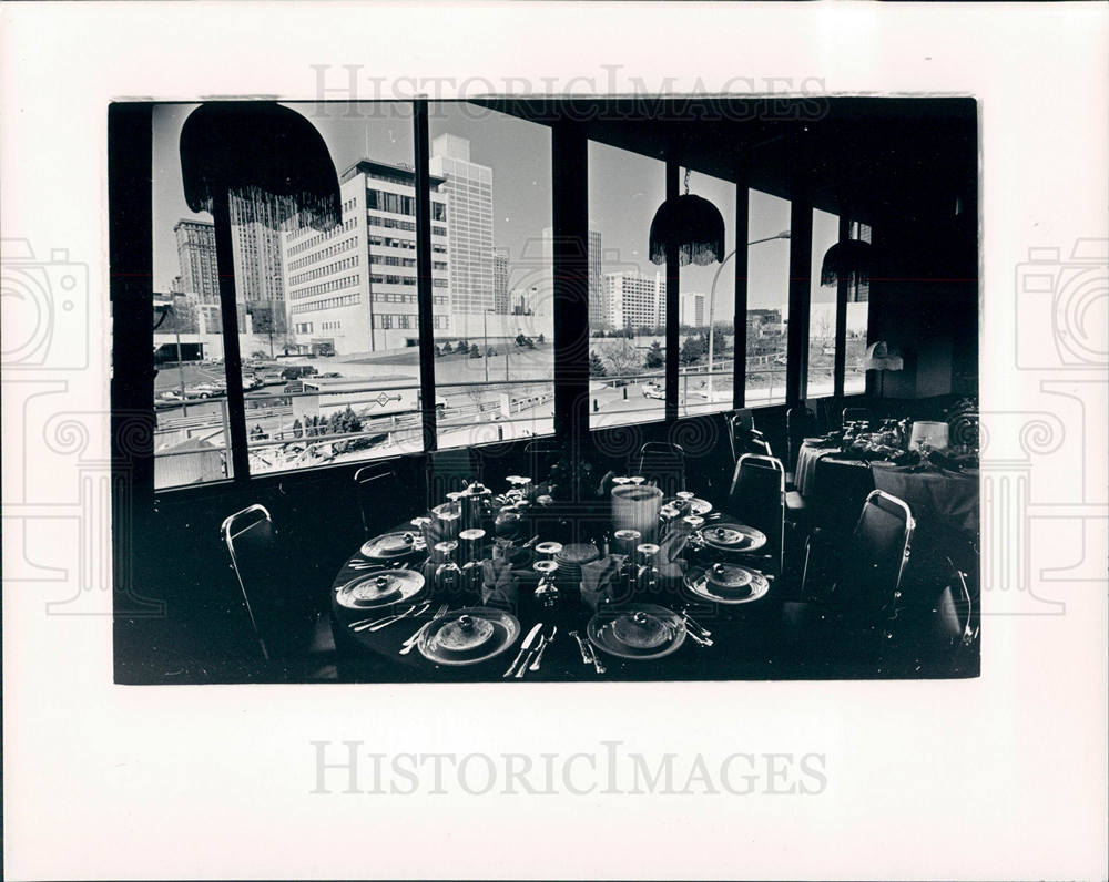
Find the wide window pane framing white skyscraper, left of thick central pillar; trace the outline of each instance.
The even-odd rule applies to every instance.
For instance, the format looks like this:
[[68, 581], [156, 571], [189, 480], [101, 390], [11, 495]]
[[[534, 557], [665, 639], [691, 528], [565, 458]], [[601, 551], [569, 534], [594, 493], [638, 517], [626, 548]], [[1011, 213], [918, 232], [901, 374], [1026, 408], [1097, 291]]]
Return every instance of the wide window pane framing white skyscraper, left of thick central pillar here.
[[439, 449], [554, 432], [550, 129], [429, 106]]

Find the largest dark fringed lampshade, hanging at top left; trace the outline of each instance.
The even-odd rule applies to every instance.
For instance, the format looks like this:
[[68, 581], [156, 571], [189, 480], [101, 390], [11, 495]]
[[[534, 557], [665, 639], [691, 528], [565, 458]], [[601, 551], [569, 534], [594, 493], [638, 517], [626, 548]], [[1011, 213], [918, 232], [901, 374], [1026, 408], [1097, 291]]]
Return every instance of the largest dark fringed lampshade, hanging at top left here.
[[181, 130], [185, 202], [212, 212], [230, 194], [235, 222], [326, 230], [342, 219], [339, 182], [327, 145], [304, 116], [272, 101], [202, 104]]

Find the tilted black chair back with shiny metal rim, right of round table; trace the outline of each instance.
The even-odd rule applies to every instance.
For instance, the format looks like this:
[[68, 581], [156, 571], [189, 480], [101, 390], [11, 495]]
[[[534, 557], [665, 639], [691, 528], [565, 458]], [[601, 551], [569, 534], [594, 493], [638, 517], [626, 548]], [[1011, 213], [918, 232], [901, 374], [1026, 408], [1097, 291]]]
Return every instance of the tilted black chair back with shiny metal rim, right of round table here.
[[916, 521], [902, 500], [872, 491], [851, 537], [835, 596], [840, 604], [878, 611], [893, 603], [913, 544]]

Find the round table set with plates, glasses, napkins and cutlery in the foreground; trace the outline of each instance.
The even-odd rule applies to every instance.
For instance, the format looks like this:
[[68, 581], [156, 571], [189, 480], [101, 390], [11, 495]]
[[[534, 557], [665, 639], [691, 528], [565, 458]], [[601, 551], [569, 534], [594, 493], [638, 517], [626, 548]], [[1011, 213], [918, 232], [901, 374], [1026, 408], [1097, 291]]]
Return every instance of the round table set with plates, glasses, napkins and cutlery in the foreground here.
[[406, 679], [701, 678], [700, 654], [724, 657], [701, 619], [742, 630], [736, 611], [770, 593], [766, 536], [692, 492], [614, 475], [608, 504], [574, 519], [546, 486], [506, 484], [363, 543], [332, 592], [336, 644]]

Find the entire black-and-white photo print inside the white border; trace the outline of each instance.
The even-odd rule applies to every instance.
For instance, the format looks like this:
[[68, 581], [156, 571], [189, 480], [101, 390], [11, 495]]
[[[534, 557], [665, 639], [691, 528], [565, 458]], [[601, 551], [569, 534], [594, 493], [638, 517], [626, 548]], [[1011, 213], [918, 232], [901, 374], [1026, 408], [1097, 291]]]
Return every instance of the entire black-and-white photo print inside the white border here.
[[974, 99], [108, 146], [118, 683], [978, 675]]

